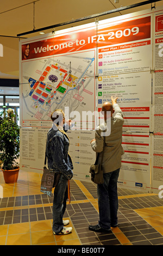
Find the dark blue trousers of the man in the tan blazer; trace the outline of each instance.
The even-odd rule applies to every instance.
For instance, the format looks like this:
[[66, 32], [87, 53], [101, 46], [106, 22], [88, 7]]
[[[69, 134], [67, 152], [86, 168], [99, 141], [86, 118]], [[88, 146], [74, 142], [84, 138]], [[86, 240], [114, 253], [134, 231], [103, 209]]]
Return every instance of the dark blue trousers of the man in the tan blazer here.
[[99, 225], [104, 229], [117, 224], [118, 194], [117, 180], [120, 168], [104, 173], [104, 183], [97, 185]]

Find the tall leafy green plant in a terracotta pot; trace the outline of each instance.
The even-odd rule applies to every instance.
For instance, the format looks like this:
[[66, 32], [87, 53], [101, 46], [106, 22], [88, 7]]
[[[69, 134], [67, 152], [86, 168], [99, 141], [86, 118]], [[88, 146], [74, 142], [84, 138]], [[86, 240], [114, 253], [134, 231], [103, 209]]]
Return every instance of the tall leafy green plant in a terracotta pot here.
[[20, 127], [14, 121], [15, 116], [9, 108], [0, 124], [0, 160], [5, 183], [17, 182], [20, 169], [16, 162], [20, 152]]

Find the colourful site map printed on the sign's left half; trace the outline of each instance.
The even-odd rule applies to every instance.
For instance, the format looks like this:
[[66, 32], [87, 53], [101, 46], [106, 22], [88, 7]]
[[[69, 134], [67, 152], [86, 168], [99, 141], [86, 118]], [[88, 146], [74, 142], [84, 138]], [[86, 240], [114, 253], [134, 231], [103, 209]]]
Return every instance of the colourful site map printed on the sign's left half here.
[[48, 127], [56, 108], [95, 111], [95, 51], [23, 62], [22, 70], [22, 126]]

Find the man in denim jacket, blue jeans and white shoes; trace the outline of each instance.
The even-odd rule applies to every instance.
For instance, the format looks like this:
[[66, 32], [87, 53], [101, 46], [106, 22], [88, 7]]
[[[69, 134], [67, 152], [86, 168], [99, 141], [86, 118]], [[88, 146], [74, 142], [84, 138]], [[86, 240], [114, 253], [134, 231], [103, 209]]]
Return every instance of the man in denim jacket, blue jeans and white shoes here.
[[55, 109], [51, 114], [51, 119], [53, 126], [48, 131], [46, 145], [48, 168], [51, 172], [61, 173], [54, 189], [52, 229], [54, 235], [66, 235], [72, 231], [71, 227], [64, 227], [69, 220], [62, 220], [68, 198], [67, 181], [73, 177], [73, 164], [68, 154], [70, 141], [65, 132], [69, 129], [69, 125], [68, 122], [65, 124], [65, 114], [61, 109]]

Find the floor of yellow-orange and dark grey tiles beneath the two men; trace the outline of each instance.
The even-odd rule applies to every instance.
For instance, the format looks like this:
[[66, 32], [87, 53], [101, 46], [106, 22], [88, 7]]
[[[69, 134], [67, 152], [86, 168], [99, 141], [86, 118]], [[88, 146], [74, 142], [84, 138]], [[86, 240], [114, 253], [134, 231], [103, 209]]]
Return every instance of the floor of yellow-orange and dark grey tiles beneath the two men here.
[[40, 192], [41, 174], [20, 172], [15, 184], [3, 186], [0, 199], [0, 245], [163, 245], [163, 199], [157, 194], [118, 188], [118, 227], [110, 233], [88, 229], [98, 222], [97, 188], [71, 180], [71, 204], [64, 215], [71, 234], [52, 233], [53, 198]]

